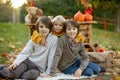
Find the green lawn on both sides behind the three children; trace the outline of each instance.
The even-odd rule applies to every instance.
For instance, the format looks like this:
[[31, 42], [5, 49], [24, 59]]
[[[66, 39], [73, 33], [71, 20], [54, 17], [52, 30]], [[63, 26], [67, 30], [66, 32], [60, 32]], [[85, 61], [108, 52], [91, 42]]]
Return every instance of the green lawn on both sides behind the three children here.
[[[92, 43], [100, 42], [109, 50], [120, 50], [120, 34], [92, 28]], [[0, 54], [23, 48], [29, 40], [29, 28], [25, 24], [0, 23]]]

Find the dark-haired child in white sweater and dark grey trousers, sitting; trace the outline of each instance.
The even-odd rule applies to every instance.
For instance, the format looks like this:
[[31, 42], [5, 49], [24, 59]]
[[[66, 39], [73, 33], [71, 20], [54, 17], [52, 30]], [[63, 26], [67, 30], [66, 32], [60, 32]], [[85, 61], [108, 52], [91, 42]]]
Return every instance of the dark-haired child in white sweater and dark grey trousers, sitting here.
[[30, 39], [13, 64], [8, 68], [0, 69], [0, 74], [11, 79], [36, 80], [40, 73], [45, 72], [50, 58], [49, 55], [55, 53], [58, 38], [49, 33], [51, 29], [51, 20], [46, 16], [41, 17], [37, 26], [37, 35], [46, 38], [46, 46], [36, 44]]

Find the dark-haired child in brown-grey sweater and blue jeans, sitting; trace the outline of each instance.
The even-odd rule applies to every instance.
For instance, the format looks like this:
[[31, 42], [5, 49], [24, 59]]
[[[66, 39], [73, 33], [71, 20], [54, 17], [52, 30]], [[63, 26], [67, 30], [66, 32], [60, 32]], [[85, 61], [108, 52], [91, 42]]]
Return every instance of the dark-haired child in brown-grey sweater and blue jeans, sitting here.
[[[92, 76], [100, 72], [100, 66], [89, 62], [89, 57], [85, 51], [83, 42], [73, 42], [78, 35], [78, 24], [74, 20], [69, 20], [66, 24], [66, 33], [58, 39], [53, 64], [50, 75], [54, 76], [56, 68], [65, 74]], [[78, 59], [77, 55], [80, 55]]]

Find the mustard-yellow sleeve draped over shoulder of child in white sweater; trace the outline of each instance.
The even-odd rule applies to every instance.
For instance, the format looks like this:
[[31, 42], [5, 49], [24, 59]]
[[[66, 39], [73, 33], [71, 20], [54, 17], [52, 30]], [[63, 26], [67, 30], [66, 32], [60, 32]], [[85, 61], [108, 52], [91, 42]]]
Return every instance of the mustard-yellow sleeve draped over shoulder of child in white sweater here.
[[33, 32], [33, 35], [31, 36], [31, 39], [33, 42], [35, 42], [36, 44], [40, 44], [43, 37], [42, 35], [40, 35], [37, 31]]

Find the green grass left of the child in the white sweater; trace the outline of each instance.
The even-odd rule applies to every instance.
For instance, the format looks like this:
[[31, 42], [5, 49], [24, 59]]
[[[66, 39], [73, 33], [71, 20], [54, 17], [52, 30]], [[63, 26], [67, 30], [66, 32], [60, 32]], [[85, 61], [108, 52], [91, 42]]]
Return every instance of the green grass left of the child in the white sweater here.
[[25, 24], [0, 23], [0, 39], [0, 53], [9, 53], [25, 45], [29, 39], [29, 28]]

